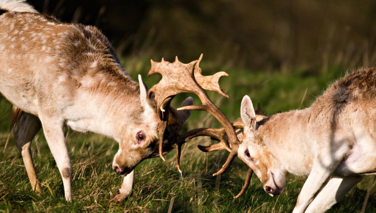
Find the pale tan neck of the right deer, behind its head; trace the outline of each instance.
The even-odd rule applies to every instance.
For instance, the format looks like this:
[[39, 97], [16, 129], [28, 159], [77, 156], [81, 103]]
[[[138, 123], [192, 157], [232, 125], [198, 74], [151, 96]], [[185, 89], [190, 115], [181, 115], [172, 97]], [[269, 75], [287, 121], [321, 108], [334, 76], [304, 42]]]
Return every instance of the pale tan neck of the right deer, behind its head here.
[[275, 114], [259, 127], [258, 134], [283, 169], [295, 175], [311, 171], [314, 147], [307, 122], [310, 108]]

